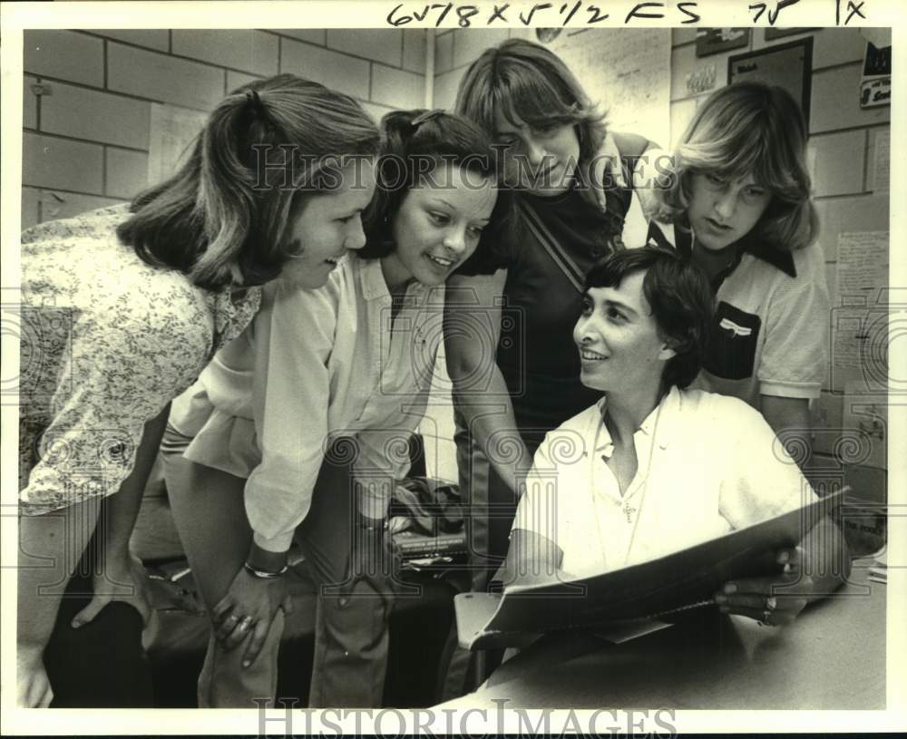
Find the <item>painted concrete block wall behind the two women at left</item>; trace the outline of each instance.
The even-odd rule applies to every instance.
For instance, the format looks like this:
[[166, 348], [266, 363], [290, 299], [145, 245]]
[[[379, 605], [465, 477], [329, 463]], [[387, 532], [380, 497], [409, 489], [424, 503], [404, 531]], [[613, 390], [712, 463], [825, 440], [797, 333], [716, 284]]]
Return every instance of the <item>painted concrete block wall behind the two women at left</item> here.
[[207, 112], [240, 84], [290, 72], [352, 95], [375, 119], [422, 107], [425, 34], [25, 31], [22, 226], [128, 200], [142, 190], [151, 102]]

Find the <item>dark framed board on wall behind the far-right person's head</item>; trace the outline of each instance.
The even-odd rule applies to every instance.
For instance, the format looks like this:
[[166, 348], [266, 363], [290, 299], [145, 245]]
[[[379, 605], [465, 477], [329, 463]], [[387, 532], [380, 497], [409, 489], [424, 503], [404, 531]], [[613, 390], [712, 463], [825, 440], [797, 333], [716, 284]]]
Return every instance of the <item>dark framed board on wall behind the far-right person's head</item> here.
[[813, 76], [813, 39], [778, 44], [757, 52], [740, 53], [727, 60], [727, 83], [757, 80], [785, 88], [800, 103], [809, 125], [810, 81]]

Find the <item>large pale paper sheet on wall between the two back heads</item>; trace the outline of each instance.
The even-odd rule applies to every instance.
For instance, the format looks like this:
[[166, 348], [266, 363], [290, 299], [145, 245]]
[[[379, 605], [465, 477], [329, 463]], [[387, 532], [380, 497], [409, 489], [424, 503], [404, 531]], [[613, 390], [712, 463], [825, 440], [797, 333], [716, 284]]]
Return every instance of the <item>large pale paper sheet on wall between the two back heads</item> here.
[[670, 28], [585, 28], [564, 31], [545, 45], [608, 112], [612, 130], [668, 146]]

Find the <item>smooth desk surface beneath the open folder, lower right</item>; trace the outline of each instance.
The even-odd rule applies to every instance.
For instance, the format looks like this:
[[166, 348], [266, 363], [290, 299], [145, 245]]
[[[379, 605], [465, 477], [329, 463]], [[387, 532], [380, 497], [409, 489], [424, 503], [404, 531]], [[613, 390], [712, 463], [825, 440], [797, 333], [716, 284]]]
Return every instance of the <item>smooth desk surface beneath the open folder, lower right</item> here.
[[444, 707], [884, 708], [886, 586], [868, 581], [870, 563], [786, 627], [709, 608], [622, 644], [542, 637]]

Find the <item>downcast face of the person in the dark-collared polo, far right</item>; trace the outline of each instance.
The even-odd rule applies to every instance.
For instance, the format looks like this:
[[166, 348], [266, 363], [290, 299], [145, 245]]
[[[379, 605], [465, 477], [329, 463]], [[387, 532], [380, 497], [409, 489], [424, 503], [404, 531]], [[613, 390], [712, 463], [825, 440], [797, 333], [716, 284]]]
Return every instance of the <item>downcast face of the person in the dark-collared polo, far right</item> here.
[[696, 172], [691, 180], [687, 214], [697, 244], [717, 251], [748, 234], [772, 200], [772, 193], [752, 175], [724, 180]]

